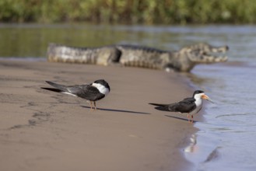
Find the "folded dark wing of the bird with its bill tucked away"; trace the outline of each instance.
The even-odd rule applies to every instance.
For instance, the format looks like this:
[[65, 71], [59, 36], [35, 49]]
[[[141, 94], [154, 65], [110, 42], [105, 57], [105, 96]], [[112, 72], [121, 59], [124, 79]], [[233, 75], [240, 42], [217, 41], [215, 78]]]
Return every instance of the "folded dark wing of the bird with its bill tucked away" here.
[[96, 87], [91, 85], [68, 86], [67, 89], [68, 92], [90, 101], [96, 101], [102, 99], [105, 96], [104, 94], [100, 93]]

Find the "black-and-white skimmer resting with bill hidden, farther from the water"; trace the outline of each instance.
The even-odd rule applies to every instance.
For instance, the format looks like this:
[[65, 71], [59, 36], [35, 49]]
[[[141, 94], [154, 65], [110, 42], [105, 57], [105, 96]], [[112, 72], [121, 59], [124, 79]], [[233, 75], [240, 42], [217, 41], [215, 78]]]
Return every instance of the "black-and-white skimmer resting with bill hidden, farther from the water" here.
[[47, 89], [54, 92], [62, 92], [68, 95], [78, 96], [82, 99], [87, 99], [89, 101], [91, 110], [93, 110], [93, 104], [94, 104], [94, 110], [96, 110], [96, 101], [99, 99], [103, 99], [110, 92], [110, 86], [103, 79], [96, 80], [95, 82], [86, 84], [86, 85], [74, 85], [74, 86], [64, 86], [54, 82], [49, 82], [49, 81], [46, 81], [46, 82], [56, 89], [52, 89], [52, 88], [42, 88], [42, 89]]

